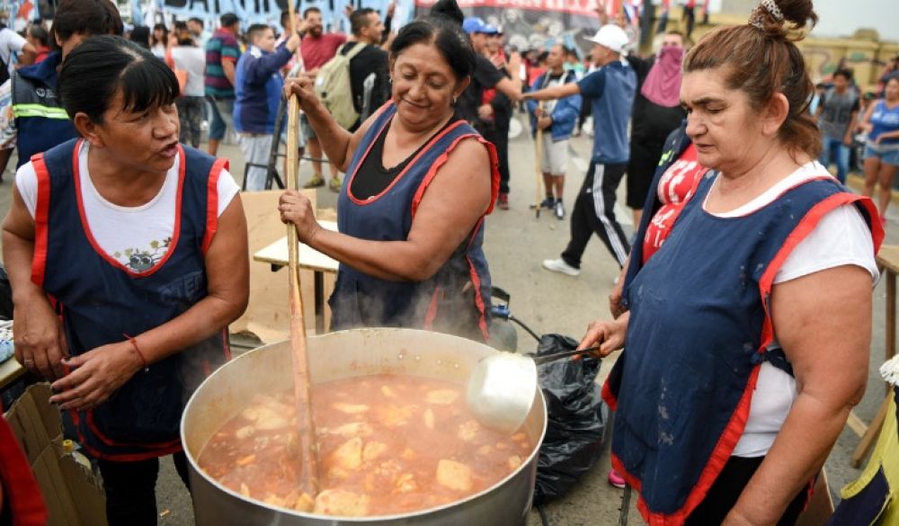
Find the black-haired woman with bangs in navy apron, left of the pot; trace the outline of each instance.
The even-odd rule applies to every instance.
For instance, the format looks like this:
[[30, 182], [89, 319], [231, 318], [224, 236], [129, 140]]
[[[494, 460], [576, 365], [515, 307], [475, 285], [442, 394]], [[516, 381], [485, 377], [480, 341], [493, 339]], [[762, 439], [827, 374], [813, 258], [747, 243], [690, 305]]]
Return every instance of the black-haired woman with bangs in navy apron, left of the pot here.
[[111, 526], [156, 524], [158, 458], [187, 484], [182, 410], [246, 306], [244, 213], [227, 162], [178, 143], [149, 51], [85, 40], [58, 92], [81, 138], [22, 165], [4, 221], [16, 358], [98, 460]]

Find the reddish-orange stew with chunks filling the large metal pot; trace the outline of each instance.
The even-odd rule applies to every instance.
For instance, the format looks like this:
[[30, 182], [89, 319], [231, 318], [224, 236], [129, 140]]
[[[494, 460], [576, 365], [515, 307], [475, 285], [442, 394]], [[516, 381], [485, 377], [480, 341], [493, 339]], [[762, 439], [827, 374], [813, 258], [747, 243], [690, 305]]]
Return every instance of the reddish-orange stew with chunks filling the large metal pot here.
[[478, 423], [457, 385], [378, 375], [312, 388], [321, 485], [301, 492], [292, 390], [254, 396], [215, 433], [200, 468], [271, 506], [339, 516], [413, 513], [494, 486], [533, 452], [519, 430]]

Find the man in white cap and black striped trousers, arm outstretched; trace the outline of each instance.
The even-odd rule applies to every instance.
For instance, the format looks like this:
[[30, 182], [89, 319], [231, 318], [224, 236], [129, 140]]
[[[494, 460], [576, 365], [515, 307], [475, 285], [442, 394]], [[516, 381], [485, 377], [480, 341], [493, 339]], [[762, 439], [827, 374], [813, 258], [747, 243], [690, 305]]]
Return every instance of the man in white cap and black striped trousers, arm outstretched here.
[[628, 167], [628, 120], [634, 104], [636, 74], [621, 60], [628, 35], [607, 24], [592, 39], [592, 59], [600, 67], [577, 83], [556, 85], [525, 94], [526, 99], [547, 101], [574, 94], [592, 98], [593, 153], [590, 169], [571, 214], [571, 239], [559, 259], [543, 267], [569, 276], [581, 273], [581, 256], [595, 232], [623, 266], [630, 252], [628, 238], [615, 218], [615, 191]]

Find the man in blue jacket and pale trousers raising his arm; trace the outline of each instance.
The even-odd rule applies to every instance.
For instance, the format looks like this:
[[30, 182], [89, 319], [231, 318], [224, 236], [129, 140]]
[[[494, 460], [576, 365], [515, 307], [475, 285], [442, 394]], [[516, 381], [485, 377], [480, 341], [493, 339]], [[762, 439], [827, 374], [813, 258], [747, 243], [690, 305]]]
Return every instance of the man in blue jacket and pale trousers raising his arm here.
[[270, 26], [257, 23], [246, 32], [250, 49], [237, 61], [235, 129], [240, 134], [240, 148], [247, 164], [253, 166], [246, 174], [247, 190], [264, 190], [274, 136], [275, 116], [281, 99], [284, 80], [280, 68], [288, 63], [299, 46], [297, 33], [290, 35], [275, 50], [275, 32]]

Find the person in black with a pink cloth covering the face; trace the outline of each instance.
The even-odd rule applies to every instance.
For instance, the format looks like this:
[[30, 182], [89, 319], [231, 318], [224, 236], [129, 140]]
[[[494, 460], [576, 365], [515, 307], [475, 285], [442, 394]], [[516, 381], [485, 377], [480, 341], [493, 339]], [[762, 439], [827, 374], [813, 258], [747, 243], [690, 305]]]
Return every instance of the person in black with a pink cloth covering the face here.
[[636, 72], [637, 85], [630, 125], [627, 197], [635, 226], [640, 224], [665, 138], [687, 116], [680, 99], [682, 61], [683, 35], [679, 31], [665, 34], [662, 48], [653, 60], [628, 56], [630, 67]]

